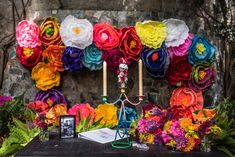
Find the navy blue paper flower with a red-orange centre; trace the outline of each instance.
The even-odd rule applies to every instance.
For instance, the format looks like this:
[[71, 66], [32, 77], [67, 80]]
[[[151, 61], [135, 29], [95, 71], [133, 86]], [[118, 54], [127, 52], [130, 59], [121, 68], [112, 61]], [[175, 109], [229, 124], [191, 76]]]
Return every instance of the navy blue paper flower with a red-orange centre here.
[[164, 77], [169, 65], [169, 57], [165, 46], [160, 49], [144, 48], [141, 58], [149, 75], [152, 77]]

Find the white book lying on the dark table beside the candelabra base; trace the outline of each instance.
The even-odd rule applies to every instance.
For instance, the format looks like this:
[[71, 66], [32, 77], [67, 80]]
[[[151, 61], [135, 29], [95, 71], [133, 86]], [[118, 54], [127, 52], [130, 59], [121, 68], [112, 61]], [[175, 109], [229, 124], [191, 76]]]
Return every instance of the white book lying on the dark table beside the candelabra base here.
[[[102, 129], [79, 133], [78, 137], [105, 144], [105, 143], [113, 142], [115, 139], [115, 135], [116, 135], [116, 130], [112, 130], [109, 128], [102, 128]], [[121, 134], [121, 136], [123, 136], [123, 134]], [[121, 138], [117, 135], [116, 140], [120, 140], [120, 139]]]

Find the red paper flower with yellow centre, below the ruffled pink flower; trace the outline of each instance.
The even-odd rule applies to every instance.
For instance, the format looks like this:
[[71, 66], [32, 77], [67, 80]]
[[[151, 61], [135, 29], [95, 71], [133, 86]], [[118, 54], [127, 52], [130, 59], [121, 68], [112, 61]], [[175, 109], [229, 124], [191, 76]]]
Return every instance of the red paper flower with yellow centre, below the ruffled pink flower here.
[[32, 69], [42, 59], [42, 47], [25, 48], [18, 45], [16, 55], [24, 67]]

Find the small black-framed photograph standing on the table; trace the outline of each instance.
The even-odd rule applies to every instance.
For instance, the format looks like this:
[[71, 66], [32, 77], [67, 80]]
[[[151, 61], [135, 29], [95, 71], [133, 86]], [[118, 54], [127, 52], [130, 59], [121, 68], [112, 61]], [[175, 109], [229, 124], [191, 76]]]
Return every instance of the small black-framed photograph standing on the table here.
[[74, 115], [60, 116], [60, 138], [74, 138], [76, 136], [76, 117]]

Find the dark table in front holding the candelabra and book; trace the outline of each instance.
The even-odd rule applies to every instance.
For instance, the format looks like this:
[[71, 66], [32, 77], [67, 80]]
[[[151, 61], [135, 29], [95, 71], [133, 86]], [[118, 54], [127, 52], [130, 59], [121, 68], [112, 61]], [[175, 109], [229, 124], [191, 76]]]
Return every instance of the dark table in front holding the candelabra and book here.
[[111, 144], [99, 144], [81, 138], [59, 139], [58, 135], [51, 135], [50, 140], [41, 142], [35, 137], [16, 157], [226, 157], [220, 152], [178, 152], [171, 151], [164, 146], [149, 145], [148, 151], [137, 148], [114, 149]]

